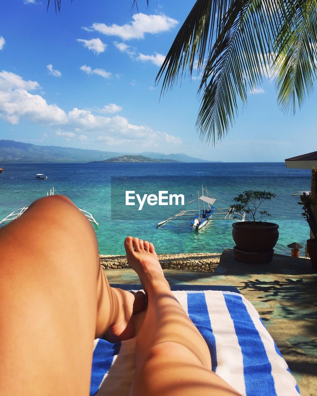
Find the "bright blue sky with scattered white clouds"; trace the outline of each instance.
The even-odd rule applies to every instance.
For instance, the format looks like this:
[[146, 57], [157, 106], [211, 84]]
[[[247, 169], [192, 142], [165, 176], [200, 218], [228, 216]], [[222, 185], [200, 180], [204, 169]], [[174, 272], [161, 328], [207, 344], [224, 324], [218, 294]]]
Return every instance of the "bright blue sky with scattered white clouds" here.
[[199, 81], [164, 98], [155, 77], [194, 1], [6, 2], [0, 19], [0, 139], [105, 151], [185, 153], [225, 162], [283, 161], [317, 150], [311, 97], [294, 117], [272, 80], [250, 93], [216, 147], [195, 131]]

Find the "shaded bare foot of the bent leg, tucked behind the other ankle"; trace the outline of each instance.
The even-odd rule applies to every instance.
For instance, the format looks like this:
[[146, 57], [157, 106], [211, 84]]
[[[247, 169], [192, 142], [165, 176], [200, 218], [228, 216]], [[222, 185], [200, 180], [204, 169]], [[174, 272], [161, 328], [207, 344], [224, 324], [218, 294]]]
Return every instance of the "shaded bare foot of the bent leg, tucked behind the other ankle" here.
[[133, 315], [145, 310], [146, 304], [145, 294], [142, 291], [133, 294], [116, 287], [112, 287], [111, 290], [113, 298], [117, 300], [117, 316], [103, 338], [115, 343], [135, 336]]

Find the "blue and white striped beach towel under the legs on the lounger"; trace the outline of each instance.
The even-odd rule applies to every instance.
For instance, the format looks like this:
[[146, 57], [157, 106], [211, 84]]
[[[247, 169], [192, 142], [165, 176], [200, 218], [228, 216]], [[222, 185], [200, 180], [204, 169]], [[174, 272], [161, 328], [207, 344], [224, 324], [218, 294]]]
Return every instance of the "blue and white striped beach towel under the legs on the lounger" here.
[[[298, 396], [296, 381], [255, 308], [230, 291], [173, 291], [204, 337], [212, 371], [246, 396]], [[90, 395], [128, 396], [136, 339], [95, 340]]]

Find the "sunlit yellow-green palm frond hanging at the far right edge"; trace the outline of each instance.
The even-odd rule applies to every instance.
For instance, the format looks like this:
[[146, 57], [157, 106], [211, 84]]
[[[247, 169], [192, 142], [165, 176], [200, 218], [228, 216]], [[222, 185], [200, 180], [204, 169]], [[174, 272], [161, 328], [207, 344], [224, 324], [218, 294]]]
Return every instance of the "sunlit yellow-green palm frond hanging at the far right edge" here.
[[313, 93], [317, 75], [317, 2], [298, 0], [283, 7], [284, 23], [275, 38], [277, 101], [294, 114]]

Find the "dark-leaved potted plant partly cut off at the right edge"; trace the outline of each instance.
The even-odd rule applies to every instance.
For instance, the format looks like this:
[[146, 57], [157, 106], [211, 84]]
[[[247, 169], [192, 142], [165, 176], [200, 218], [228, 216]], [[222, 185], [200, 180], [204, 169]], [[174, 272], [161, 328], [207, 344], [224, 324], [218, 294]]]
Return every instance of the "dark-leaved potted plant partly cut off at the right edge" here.
[[317, 268], [317, 219], [315, 219], [311, 209], [314, 202], [311, 198], [311, 195], [306, 195], [305, 193], [304, 195], [300, 196], [300, 200], [301, 202], [298, 202], [298, 204], [302, 205], [304, 210], [302, 215], [307, 221], [311, 233], [314, 236], [314, 238], [307, 239], [307, 252], [310, 257], [311, 265], [313, 268]]

